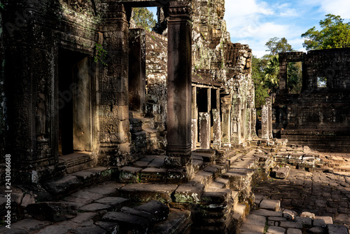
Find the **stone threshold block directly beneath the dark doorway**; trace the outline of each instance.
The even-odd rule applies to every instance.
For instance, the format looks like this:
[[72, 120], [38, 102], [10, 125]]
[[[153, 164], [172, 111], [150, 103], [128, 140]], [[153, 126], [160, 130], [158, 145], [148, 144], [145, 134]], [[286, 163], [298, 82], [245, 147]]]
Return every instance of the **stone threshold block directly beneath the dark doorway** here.
[[66, 173], [71, 174], [94, 166], [90, 152], [74, 152], [65, 156], [59, 156], [59, 163], [66, 167]]

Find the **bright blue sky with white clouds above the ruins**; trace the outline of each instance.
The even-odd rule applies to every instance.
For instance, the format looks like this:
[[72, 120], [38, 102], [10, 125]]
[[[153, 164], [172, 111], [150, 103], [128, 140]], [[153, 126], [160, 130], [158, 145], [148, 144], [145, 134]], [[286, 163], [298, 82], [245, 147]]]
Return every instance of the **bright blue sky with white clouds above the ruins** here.
[[225, 9], [231, 41], [248, 44], [257, 57], [267, 54], [265, 43], [275, 36], [286, 37], [294, 50], [305, 51], [301, 34], [319, 28], [328, 13], [350, 22], [350, 0], [225, 0]]

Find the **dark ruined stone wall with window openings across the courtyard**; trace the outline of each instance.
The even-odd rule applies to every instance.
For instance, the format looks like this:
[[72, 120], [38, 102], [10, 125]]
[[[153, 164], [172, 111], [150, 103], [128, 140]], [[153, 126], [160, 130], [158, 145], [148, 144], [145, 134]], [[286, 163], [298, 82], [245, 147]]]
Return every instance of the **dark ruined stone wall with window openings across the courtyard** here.
[[[280, 94], [276, 95], [274, 128], [291, 143], [324, 151], [349, 149], [350, 49], [281, 53]], [[302, 92], [289, 95], [286, 64], [303, 62]], [[318, 78], [326, 82], [318, 85]]]

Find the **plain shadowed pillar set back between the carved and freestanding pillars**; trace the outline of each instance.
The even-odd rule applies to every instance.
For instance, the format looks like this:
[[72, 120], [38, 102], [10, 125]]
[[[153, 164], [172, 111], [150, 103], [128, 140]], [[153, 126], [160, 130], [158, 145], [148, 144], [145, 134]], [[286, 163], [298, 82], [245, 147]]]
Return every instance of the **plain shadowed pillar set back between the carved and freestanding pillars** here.
[[129, 109], [144, 113], [146, 95], [146, 34], [144, 29], [129, 32]]

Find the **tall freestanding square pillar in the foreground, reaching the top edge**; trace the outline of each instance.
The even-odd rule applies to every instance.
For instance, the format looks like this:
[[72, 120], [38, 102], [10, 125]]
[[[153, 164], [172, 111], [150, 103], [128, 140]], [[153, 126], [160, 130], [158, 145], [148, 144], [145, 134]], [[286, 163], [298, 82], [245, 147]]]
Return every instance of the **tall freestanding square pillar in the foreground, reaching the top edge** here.
[[167, 157], [168, 167], [182, 167], [193, 177], [191, 156], [192, 22], [190, 1], [170, 1], [168, 21]]

